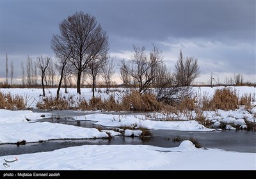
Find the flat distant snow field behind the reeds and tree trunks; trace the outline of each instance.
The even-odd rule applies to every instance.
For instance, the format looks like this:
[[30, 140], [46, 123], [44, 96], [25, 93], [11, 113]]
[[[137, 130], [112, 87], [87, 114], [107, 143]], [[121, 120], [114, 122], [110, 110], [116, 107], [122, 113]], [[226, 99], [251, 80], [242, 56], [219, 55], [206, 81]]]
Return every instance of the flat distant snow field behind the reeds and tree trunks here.
[[[218, 87], [193, 87], [194, 93], [198, 97], [202, 97], [204, 95], [208, 95], [211, 97], [214, 95], [214, 91], [216, 89], [222, 89], [225, 88], [224, 86], [218, 86]], [[236, 91], [236, 94], [241, 97], [244, 94], [253, 94], [255, 95], [256, 100], [256, 88], [249, 87], [249, 86], [231, 86], [228, 88], [232, 88], [234, 91]], [[115, 95], [116, 98], [120, 97], [120, 94], [124, 89], [122, 88], [112, 88], [112, 92], [109, 94], [104, 93], [106, 89], [102, 88], [98, 92], [95, 93], [95, 97], [102, 97], [109, 98], [109, 95]], [[42, 100], [42, 89], [38, 88], [1, 88], [1, 93], [11, 93], [12, 95], [21, 95], [22, 97], [26, 98], [26, 105], [27, 107], [36, 108], [36, 103], [40, 102]], [[56, 97], [56, 88], [47, 88], [45, 89], [45, 95], [48, 97]], [[81, 95], [78, 95], [76, 93], [76, 88], [68, 88], [68, 94], [64, 93], [65, 89], [61, 88], [60, 94], [61, 97], [65, 97], [68, 99], [71, 99], [74, 101], [74, 103], [77, 102], [79, 99], [86, 99], [90, 100], [92, 98], [92, 89], [91, 88], [81, 88]]]

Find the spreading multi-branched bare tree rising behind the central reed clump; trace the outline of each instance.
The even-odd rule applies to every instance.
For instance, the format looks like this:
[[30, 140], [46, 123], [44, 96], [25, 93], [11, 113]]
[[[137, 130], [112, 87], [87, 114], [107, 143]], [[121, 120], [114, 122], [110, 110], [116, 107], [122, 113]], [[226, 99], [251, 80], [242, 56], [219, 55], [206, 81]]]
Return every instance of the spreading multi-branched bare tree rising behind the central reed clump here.
[[145, 54], [145, 47], [133, 46], [133, 49], [134, 55], [131, 61], [127, 63], [122, 61], [121, 69], [131, 77], [131, 85], [143, 94], [154, 84], [157, 68], [162, 63], [162, 55], [156, 46], [149, 56]]

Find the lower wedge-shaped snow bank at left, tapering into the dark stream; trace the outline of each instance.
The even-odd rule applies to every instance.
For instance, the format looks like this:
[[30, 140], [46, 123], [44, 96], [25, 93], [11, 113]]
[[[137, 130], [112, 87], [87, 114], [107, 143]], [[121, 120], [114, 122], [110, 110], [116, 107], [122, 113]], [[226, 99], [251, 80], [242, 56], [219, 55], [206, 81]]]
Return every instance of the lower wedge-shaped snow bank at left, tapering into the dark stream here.
[[38, 142], [49, 139], [89, 139], [108, 137], [96, 128], [83, 128], [60, 123], [8, 123], [1, 125], [0, 143]]

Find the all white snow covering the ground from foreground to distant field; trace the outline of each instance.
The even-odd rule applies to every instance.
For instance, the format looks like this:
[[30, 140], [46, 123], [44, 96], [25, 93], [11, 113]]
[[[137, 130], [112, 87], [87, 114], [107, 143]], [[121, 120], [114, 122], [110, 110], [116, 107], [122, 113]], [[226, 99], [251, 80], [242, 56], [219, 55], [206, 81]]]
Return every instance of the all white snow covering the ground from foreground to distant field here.
[[[256, 88], [253, 87], [232, 87], [236, 89], [239, 96], [252, 94], [256, 96]], [[200, 95], [213, 95], [216, 88], [201, 87], [194, 88], [195, 93]], [[62, 95], [74, 96], [74, 98], [92, 98], [91, 89], [81, 89], [82, 95], [76, 94], [76, 89], [68, 89], [69, 93]], [[40, 101], [42, 89], [0, 89], [2, 93], [10, 92], [12, 95], [22, 95], [27, 99], [27, 107], [36, 108]], [[102, 89], [102, 91], [104, 91]], [[56, 89], [47, 89], [47, 95], [54, 97]], [[115, 92], [116, 97], [120, 95]], [[97, 93], [96, 96], [108, 98], [106, 93]], [[252, 109], [252, 113], [256, 108]], [[9, 111], [0, 109], [1, 139], [0, 143], [38, 142], [49, 139], [88, 139], [120, 135], [118, 132], [96, 128], [75, 127], [61, 123], [37, 122], [45, 117], [51, 117], [50, 113], [33, 113], [32, 111]], [[153, 118], [148, 117], [153, 116]], [[173, 114], [174, 115], [174, 114]], [[195, 117], [192, 111], [191, 115]], [[184, 121], [158, 121], [163, 118], [161, 113], [146, 114], [87, 114], [76, 116], [76, 120], [96, 121], [95, 124], [108, 127], [120, 127], [122, 125], [136, 125], [150, 129], [186, 130], [186, 131], [211, 131], [195, 120]], [[253, 114], [244, 109], [236, 111], [204, 111], [206, 120], [211, 121], [215, 127], [220, 122], [241, 125], [243, 128], [246, 120], [253, 121]], [[176, 116], [174, 116], [176, 117]], [[230, 126], [231, 127], [231, 126]], [[232, 128], [230, 128], [232, 130]], [[234, 129], [234, 128], [233, 128]], [[131, 133], [127, 131], [126, 133]], [[129, 133], [129, 134], [130, 134]], [[10, 163], [10, 167], [4, 167], [5, 160], [18, 161]], [[160, 148], [146, 145], [84, 145], [69, 148], [62, 148], [52, 152], [30, 153], [22, 155], [8, 155], [1, 157], [1, 170], [26, 170], [26, 169], [256, 169], [255, 153], [227, 152], [220, 149], [197, 149], [190, 141], [183, 141], [177, 148]]]

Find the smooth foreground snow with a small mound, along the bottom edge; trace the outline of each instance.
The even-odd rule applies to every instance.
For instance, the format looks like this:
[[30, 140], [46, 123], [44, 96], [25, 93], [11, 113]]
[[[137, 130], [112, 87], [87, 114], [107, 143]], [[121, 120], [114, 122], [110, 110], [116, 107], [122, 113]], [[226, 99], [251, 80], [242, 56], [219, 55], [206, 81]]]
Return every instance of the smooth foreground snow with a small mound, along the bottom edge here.
[[190, 141], [177, 148], [146, 145], [84, 145], [52, 152], [2, 156], [1, 170], [255, 170], [256, 153], [198, 149]]

